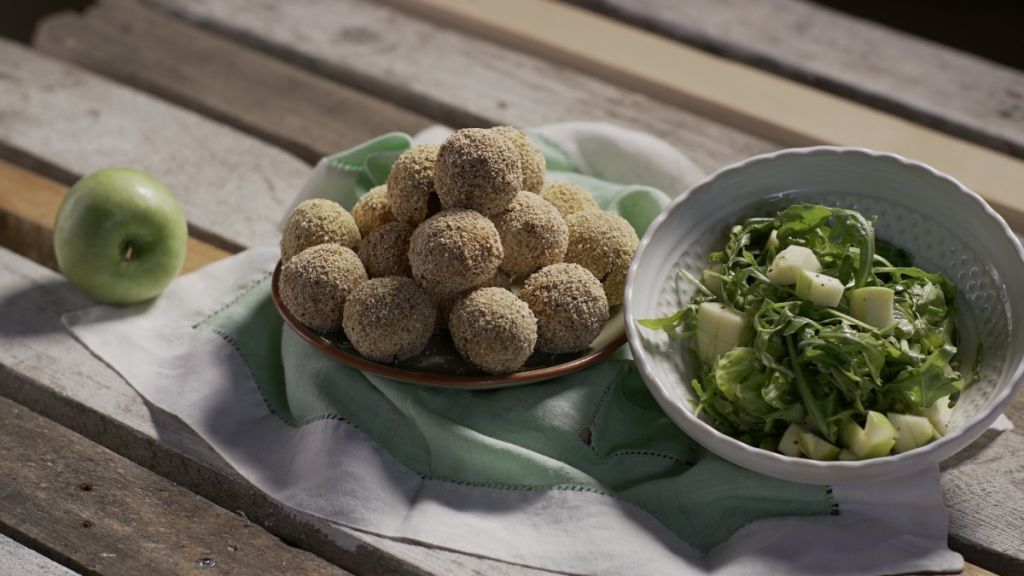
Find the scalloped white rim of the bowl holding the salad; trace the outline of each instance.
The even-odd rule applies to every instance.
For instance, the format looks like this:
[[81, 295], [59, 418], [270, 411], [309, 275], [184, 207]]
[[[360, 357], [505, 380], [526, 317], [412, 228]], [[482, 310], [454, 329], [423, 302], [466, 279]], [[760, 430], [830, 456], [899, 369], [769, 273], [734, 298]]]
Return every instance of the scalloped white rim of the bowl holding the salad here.
[[1024, 247], [1021, 246], [1020, 240], [1011, 230], [1010, 225], [981, 196], [964, 186], [956, 178], [940, 172], [923, 162], [910, 160], [898, 154], [866, 148], [814, 146], [783, 149], [754, 156], [715, 171], [676, 197], [650, 223], [643, 238], [640, 240], [633, 261], [630, 263], [626, 280], [624, 320], [626, 322], [626, 334], [630, 351], [633, 354], [640, 374], [643, 376], [644, 382], [647, 384], [647, 388], [676, 425], [705, 448], [734, 464], [783, 480], [814, 484], [833, 484], [836, 482], [877, 479], [908, 474], [948, 458], [980, 437], [1004, 412], [1010, 399], [1013, 398], [1021, 385], [1022, 376], [1024, 376], [1024, 359], [1018, 361], [1017, 366], [1014, 368], [1010, 385], [1004, 386], [1001, 390], [996, 393], [992, 409], [976, 415], [970, 421], [966, 422], [956, 434], [947, 435], [922, 448], [882, 458], [856, 461], [820, 461], [785, 456], [750, 446], [719, 431], [710, 423], [693, 415], [690, 410], [680, 406], [668, 396], [665, 385], [653, 374], [650, 368], [649, 355], [640, 343], [640, 332], [636, 326], [633, 306], [637, 270], [654, 235], [668, 219], [669, 215], [687, 198], [707, 189], [712, 182], [729, 172], [743, 170], [754, 164], [774, 162], [781, 158], [813, 155], [860, 155], [894, 161], [914, 170], [923, 170], [934, 177], [952, 183], [954, 190], [975, 202], [981, 211], [987, 214], [993, 223], [999, 227], [1002, 234], [1011, 241], [1017, 260], [1021, 269], [1024, 270]]

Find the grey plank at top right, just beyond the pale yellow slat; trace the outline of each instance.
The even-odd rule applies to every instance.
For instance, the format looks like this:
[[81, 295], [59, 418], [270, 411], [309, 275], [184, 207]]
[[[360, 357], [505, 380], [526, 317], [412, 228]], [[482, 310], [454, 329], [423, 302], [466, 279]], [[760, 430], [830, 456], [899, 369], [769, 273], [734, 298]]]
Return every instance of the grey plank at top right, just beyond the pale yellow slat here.
[[800, 0], [568, 0], [1024, 156], [1024, 73]]

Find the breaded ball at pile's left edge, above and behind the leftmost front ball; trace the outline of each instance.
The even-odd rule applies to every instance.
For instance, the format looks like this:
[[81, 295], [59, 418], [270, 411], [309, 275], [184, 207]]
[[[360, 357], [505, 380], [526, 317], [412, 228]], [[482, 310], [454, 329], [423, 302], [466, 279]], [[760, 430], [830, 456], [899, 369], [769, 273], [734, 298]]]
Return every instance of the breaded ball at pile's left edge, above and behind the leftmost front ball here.
[[295, 207], [281, 237], [281, 259], [287, 262], [299, 252], [334, 242], [355, 248], [359, 244], [359, 228], [341, 204], [313, 198]]

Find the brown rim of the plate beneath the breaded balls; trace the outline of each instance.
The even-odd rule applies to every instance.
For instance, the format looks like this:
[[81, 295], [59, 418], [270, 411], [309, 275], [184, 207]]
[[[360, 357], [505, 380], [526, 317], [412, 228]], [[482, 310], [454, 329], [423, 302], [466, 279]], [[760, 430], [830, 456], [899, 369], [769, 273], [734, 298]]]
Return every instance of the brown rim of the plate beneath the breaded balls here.
[[590, 354], [581, 356], [580, 358], [574, 358], [561, 364], [546, 366], [544, 368], [536, 368], [532, 370], [524, 370], [522, 372], [513, 372], [511, 374], [480, 373], [478, 375], [445, 375], [443, 373], [436, 372], [427, 373], [407, 370], [389, 364], [373, 362], [372, 360], [367, 360], [366, 358], [338, 349], [326, 343], [318, 333], [303, 326], [302, 323], [292, 316], [292, 313], [285, 307], [284, 302], [281, 300], [281, 293], [278, 290], [281, 266], [282, 263], [281, 260], [279, 260], [278, 264], [273, 269], [273, 277], [270, 281], [270, 295], [273, 299], [273, 305], [278, 308], [278, 314], [280, 314], [282, 319], [284, 319], [285, 324], [288, 324], [288, 326], [303, 340], [309, 342], [327, 356], [353, 368], [379, 374], [394, 380], [461, 389], [487, 389], [518, 386], [578, 372], [604, 360], [611, 353], [626, 344], [626, 330], [623, 330], [623, 333], [614, 340], [591, 352]]

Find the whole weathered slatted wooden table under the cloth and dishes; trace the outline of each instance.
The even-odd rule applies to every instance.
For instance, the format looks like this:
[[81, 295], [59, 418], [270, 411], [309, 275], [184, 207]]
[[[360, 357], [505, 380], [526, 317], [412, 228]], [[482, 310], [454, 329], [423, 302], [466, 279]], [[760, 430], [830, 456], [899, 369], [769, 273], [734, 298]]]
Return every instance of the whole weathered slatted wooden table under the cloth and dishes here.
[[[433, 123], [611, 121], [709, 171], [867, 146], [948, 171], [1024, 230], [1022, 98], [1016, 71], [798, 0], [101, 0], [50, 16], [31, 47], [0, 41], [0, 573], [542, 574], [286, 510], [79, 345], [59, 316], [90, 301], [50, 235], [82, 174], [167, 180], [186, 272], [276, 242], [321, 156]], [[1024, 399], [1010, 415], [1024, 422]], [[966, 573], [1024, 573], [1024, 437], [983, 437], [942, 484]]]

